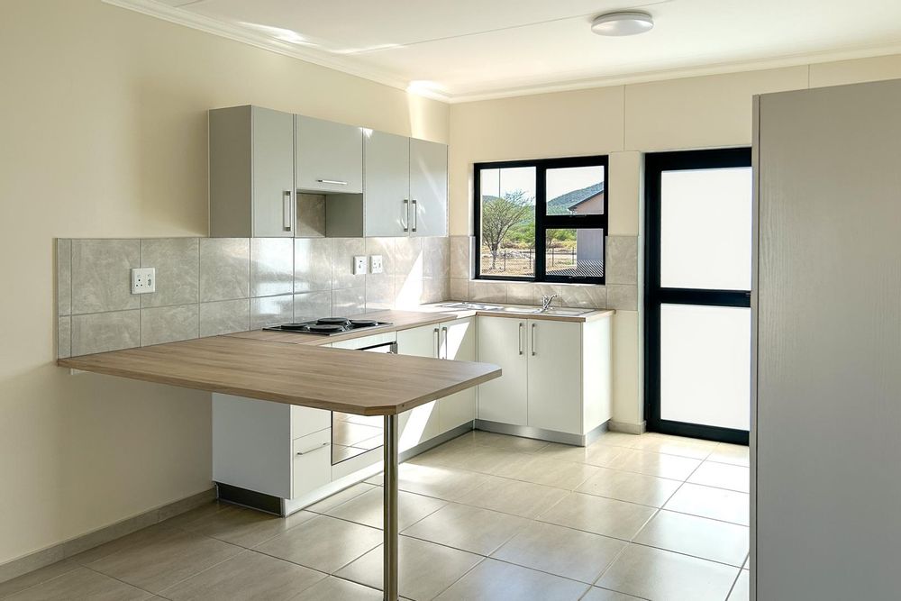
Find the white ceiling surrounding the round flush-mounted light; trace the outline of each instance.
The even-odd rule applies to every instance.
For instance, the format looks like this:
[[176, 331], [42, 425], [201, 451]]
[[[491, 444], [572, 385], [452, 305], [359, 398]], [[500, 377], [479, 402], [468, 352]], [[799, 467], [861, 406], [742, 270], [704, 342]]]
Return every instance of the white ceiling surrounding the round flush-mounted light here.
[[901, 51], [899, 0], [105, 1], [451, 102]]

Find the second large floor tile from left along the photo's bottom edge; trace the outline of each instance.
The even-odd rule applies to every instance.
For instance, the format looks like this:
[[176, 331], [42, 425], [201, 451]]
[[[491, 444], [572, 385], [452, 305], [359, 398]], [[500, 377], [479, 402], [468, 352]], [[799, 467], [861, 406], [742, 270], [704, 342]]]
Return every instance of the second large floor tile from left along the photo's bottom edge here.
[[162, 592], [173, 601], [217, 599], [292, 599], [327, 575], [278, 560], [256, 551], [244, 551]]

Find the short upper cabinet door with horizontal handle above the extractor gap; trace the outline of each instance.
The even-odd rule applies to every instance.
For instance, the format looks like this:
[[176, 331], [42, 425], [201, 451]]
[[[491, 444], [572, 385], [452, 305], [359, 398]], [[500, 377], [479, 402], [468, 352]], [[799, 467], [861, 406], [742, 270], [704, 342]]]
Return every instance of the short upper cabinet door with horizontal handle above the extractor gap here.
[[353, 125], [296, 116], [296, 187], [363, 191], [363, 131]]

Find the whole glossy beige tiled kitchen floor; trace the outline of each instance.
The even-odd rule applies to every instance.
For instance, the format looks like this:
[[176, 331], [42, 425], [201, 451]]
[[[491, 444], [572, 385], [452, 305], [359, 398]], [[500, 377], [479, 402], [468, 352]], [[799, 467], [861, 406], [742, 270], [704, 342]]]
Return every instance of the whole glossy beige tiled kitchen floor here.
[[[401, 595], [748, 598], [748, 450], [468, 433], [400, 470]], [[380, 476], [282, 520], [210, 504], [0, 583], [0, 598], [381, 598]]]

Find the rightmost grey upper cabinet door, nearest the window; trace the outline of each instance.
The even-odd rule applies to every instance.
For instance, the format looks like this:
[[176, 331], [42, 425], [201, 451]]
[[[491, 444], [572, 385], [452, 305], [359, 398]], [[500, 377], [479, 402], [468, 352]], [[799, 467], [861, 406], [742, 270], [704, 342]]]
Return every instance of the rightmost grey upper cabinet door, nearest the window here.
[[410, 235], [448, 232], [448, 147], [410, 140]]

